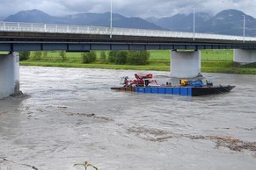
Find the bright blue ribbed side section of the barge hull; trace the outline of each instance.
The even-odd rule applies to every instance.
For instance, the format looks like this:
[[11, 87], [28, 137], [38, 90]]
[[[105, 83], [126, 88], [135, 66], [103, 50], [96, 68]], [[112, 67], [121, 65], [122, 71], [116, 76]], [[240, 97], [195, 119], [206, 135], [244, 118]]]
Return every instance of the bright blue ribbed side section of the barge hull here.
[[192, 96], [192, 88], [189, 87], [135, 87], [135, 92]]

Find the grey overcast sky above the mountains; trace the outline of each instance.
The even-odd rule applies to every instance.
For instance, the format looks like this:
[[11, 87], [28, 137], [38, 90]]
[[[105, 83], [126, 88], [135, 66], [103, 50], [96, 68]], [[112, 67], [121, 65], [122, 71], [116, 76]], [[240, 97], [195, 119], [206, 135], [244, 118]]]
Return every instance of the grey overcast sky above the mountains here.
[[[18, 11], [38, 9], [52, 16], [110, 11], [111, 0], [0, 0], [0, 18]], [[113, 13], [126, 17], [170, 17], [193, 12], [216, 14], [227, 9], [244, 11], [256, 18], [256, 0], [113, 0]]]

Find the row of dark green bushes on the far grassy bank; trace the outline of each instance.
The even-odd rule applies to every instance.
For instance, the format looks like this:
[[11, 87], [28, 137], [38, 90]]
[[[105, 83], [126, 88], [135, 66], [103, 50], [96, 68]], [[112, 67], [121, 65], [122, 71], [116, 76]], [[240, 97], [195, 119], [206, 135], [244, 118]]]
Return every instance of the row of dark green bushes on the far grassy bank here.
[[[67, 53], [65, 51], [59, 51], [59, 56], [62, 57], [62, 60], [67, 60]], [[20, 52], [20, 60], [40, 60], [42, 58], [48, 57], [48, 52], [34, 52], [33, 55], [31, 52]], [[106, 54], [105, 51], [101, 51], [99, 56], [95, 51], [90, 51], [86, 53], [81, 53], [81, 58], [83, 63], [93, 63], [96, 60], [99, 60], [101, 63], [113, 63], [113, 64], [129, 64], [129, 65], [146, 65], [149, 63], [150, 52], [148, 51], [110, 51]]]

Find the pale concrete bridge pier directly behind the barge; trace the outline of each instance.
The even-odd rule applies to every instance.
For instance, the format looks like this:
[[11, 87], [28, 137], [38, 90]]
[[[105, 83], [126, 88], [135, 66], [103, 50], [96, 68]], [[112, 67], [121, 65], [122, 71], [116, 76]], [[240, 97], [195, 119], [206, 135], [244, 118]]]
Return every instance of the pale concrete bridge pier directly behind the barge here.
[[172, 50], [171, 75], [177, 78], [192, 78], [201, 74], [201, 52], [177, 52]]

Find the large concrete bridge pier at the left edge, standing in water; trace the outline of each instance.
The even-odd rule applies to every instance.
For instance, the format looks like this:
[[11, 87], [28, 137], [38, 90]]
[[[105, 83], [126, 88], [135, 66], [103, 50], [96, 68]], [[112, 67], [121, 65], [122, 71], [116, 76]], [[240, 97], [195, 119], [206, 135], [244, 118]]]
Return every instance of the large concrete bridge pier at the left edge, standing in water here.
[[19, 54], [0, 54], [0, 99], [19, 94]]

